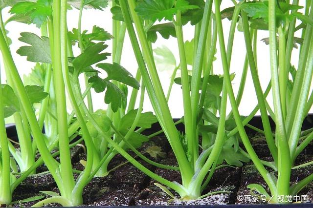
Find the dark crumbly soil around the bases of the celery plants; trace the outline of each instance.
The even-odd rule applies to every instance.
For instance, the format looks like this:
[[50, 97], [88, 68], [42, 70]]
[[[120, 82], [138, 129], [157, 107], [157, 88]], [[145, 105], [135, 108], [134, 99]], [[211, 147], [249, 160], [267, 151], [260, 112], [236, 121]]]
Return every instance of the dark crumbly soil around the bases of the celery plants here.
[[[264, 160], [271, 161], [269, 157], [269, 150], [264, 136], [259, 133], [249, 133], [251, 136], [251, 144], [256, 150], [257, 155]], [[159, 162], [164, 165], [177, 166], [177, 161], [173, 152], [170, 150], [170, 146], [164, 136], [158, 136], [152, 138], [149, 142], [143, 144], [139, 149], [140, 152], [144, 152], [149, 146], [160, 146], [162, 152], [166, 153], [165, 158], [157, 157], [153, 158], [149, 154], [145, 153], [145, 156]], [[80, 160], [86, 159], [86, 154], [82, 147], [75, 147], [72, 152], [72, 164], [73, 168], [77, 170], [83, 170], [84, 167], [79, 163]], [[131, 155], [134, 153], [129, 151]], [[313, 145], [309, 145], [305, 150], [305, 154], [301, 154], [295, 165], [300, 165], [308, 161], [313, 160]], [[117, 154], [109, 165], [109, 169], [126, 162], [126, 160], [119, 154]], [[156, 174], [163, 178], [181, 183], [181, 177], [179, 171], [167, 170], [162, 168], [156, 168], [147, 164], [142, 160], [138, 160], [141, 164], [148, 169], [154, 171]], [[37, 170], [45, 171], [45, 166], [41, 166]], [[276, 172], [268, 169], [273, 175], [277, 175]], [[309, 174], [313, 173], [313, 166], [307, 166], [291, 171], [291, 185], [297, 183], [299, 180], [305, 178]], [[209, 182], [208, 188], [203, 191], [202, 194], [216, 191], [224, 191], [223, 193], [209, 195], [200, 200], [181, 201], [178, 193], [174, 190], [169, 190], [174, 194], [176, 199], [172, 199], [159, 187], [154, 184], [155, 180], [150, 179], [143, 174], [137, 168], [130, 163], [120, 166], [115, 171], [112, 171], [110, 175], [106, 177], [96, 177], [85, 187], [83, 192], [83, 206], [185, 206], [185, 205], [224, 205], [224, 204], [262, 204], [261, 200], [257, 202], [253, 201], [249, 188], [246, 186], [249, 184], [260, 184], [267, 191], [265, 181], [255, 169], [252, 163], [244, 164], [243, 167], [223, 167], [217, 169]], [[29, 176], [17, 189], [13, 196], [13, 201], [22, 200], [30, 196], [44, 195], [39, 191], [55, 191], [59, 192], [56, 187], [53, 178], [49, 173], [37, 174]], [[239, 195], [249, 195], [251, 201], [239, 201], [237, 198]], [[253, 193], [252, 193], [253, 195]], [[313, 203], [313, 183], [304, 188], [299, 195], [307, 195], [308, 202]], [[46, 198], [48, 196], [45, 196]], [[38, 202], [38, 201], [36, 201]], [[29, 207], [36, 202], [17, 203], [13, 207]], [[59, 206], [52, 204], [49, 206]]]

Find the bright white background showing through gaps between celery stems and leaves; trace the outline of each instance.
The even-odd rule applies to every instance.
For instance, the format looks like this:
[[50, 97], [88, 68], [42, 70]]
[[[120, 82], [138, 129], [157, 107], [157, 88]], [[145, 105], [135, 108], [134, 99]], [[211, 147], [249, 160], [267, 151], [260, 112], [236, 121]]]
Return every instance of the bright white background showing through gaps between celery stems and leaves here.
[[[223, 1], [222, 3], [222, 9], [232, 6], [231, 1]], [[9, 8], [6, 8], [3, 10], [3, 18], [6, 20], [10, 15], [8, 14]], [[71, 30], [73, 27], [77, 28], [78, 24], [78, 14], [79, 11], [77, 9], [73, 9], [68, 11], [68, 28]], [[84, 10], [83, 13], [83, 22], [82, 22], [82, 30], [91, 30], [93, 25], [100, 26], [110, 32], [112, 34], [112, 14], [110, 12], [110, 9], [105, 9], [105, 11], [99, 11], [99, 10], [91, 10], [87, 9]], [[224, 26], [224, 37], [225, 40], [228, 38], [228, 32], [229, 32], [229, 26], [230, 21], [227, 19], [223, 20], [223, 26]], [[30, 72], [31, 68], [34, 66], [34, 63], [27, 62], [25, 57], [21, 57], [20, 55], [16, 54], [16, 51], [19, 47], [24, 45], [24, 43], [20, 42], [18, 38], [20, 37], [20, 33], [24, 31], [33, 32], [37, 35], [40, 35], [40, 30], [35, 27], [35, 25], [26, 25], [18, 22], [11, 22], [8, 23], [6, 26], [6, 29], [9, 31], [8, 36], [12, 39], [11, 44], [11, 51], [13, 54], [14, 61], [18, 67], [18, 70], [22, 75], [27, 74]], [[191, 40], [194, 35], [194, 28], [191, 25], [184, 26], [184, 39]], [[297, 37], [299, 37], [299, 34], [296, 34]], [[269, 76], [270, 76], [270, 69], [269, 69], [269, 48], [268, 45], [266, 45], [264, 42], [261, 42], [261, 39], [268, 37], [268, 31], [259, 31], [258, 32], [258, 45], [257, 45], [257, 54], [258, 54], [258, 70], [259, 70], [259, 78], [263, 87], [263, 90], [265, 90], [268, 82], [269, 82]], [[226, 41], [227, 43], [227, 41]], [[109, 45], [108, 50], [112, 50], [112, 42], [108, 41], [107, 44]], [[166, 45], [169, 47], [172, 52], [175, 54], [177, 60], [179, 60], [178, 56], [178, 46], [177, 46], [177, 40], [174, 38], [170, 38], [169, 40], [164, 40], [162, 37], [158, 37], [157, 42], [153, 44], [153, 47], [159, 47], [161, 45]], [[79, 50], [75, 48], [74, 50], [75, 55], [79, 55]], [[222, 64], [220, 59], [220, 49], [219, 44], [217, 45], [217, 60], [214, 62], [214, 72], [216, 74], [222, 74]], [[233, 80], [233, 88], [235, 93], [238, 90], [240, 79], [241, 79], [241, 71], [243, 69], [243, 64], [245, 60], [246, 55], [246, 49], [245, 49], [245, 42], [244, 42], [244, 35], [242, 32], [239, 32], [236, 30], [235, 33], [235, 40], [233, 45], [233, 54], [230, 64], [230, 71], [236, 73], [236, 77]], [[297, 59], [298, 59], [298, 49], [293, 50], [292, 54], [292, 64], [297, 66]], [[106, 62], [112, 62], [112, 59], [109, 58], [106, 60]], [[179, 63], [179, 61], [177, 61]], [[127, 70], [129, 70], [133, 75], [135, 75], [135, 71], [137, 69], [136, 60], [134, 58], [133, 49], [131, 47], [131, 43], [129, 41], [128, 35], [126, 34], [125, 44], [123, 48], [123, 54], [122, 54], [122, 62], [121, 65], [124, 66]], [[2, 82], [5, 81], [5, 75], [3, 65], [1, 64], [1, 79]], [[159, 72], [159, 77], [163, 85], [163, 89], [167, 91], [168, 84], [170, 81], [170, 74], [171, 71], [162, 71]], [[129, 93], [130, 94], [130, 93]], [[106, 108], [106, 105], [104, 104], [104, 95], [102, 94], [96, 94], [92, 90], [92, 96], [93, 96], [93, 104], [95, 109], [99, 108]], [[272, 105], [272, 95], [268, 95], [268, 102], [270, 105]], [[242, 115], [248, 115], [251, 110], [255, 107], [257, 103], [255, 91], [253, 87], [253, 83], [251, 80], [251, 75], [248, 72], [247, 75], [247, 81], [246, 81], [246, 87], [243, 95], [243, 99], [241, 102], [241, 105], [239, 107], [240, 112]], [[177, 84], [174, 84], [172, 89], [171, 98], [169, 101], [169, 106], [171, 109], [171, 113], [173, 118], [179, 118], [183, 114], [183, 105], [182, 105], [182, 96], [181, 96], [181, 89], [180, 86]], [[228, 110], [230, 108], [230, 105], [228, 105]], [[146, 96], [146, 101], [144, 104], [144, 111], [153, 111], [150, 101], [148, 99], [148, 96]]]

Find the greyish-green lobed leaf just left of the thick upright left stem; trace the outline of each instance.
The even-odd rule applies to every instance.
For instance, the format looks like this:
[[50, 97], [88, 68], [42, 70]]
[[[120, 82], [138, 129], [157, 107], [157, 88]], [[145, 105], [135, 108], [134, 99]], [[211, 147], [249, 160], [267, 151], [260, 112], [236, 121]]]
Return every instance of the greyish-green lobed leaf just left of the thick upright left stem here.
[[50, 43], [47, 37], [38, 37], [34, 33], [21, 33], [21, 42], [29, 44], [17, 50], [21, 56], [27, 56], [29, 62], [51, 63]]

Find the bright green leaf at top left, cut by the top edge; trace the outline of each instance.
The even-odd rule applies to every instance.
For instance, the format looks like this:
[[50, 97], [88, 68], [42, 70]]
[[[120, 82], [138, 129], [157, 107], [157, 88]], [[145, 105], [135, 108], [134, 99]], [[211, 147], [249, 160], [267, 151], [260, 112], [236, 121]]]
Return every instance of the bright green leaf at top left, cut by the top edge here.
[[27, 16], [37, 27], [41, 27], [47, 18], [52, 15], [51, 2], [52, 0], [22, 1], [16, 3], [11, 8], [10, 13]]

